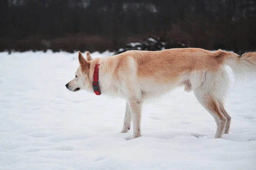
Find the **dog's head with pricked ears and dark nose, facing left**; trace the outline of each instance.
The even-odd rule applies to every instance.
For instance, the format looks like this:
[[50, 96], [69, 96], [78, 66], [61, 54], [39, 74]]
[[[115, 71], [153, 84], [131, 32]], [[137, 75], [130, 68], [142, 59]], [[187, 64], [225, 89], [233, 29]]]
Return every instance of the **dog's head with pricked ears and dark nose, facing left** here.
[[79, 51], [78, 59], [80, 65], [76, 70], [75, 78], [66, 84], [67, 89], [70, 91], [86, 90], [87, 86], [90, 85], [90, 60], [92, 60], [92, 57], [87, 51], [86, 59], [84, 59]]

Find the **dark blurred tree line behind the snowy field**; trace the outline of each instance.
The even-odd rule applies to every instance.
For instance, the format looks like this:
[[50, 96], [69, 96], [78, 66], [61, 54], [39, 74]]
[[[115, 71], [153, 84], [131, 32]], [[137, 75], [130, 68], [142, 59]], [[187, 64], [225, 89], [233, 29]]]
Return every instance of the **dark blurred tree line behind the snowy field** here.
[[0, 0], [0, 51], [256, 50], [256, 0]]

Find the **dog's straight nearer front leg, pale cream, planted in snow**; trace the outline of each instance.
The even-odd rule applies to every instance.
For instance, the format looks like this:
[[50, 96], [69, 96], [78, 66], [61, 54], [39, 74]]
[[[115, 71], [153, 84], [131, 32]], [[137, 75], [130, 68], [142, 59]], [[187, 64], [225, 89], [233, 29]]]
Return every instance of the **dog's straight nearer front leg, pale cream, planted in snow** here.
[[131, 139], [140, 137], [140, 118], [141, 118], [141, 108], [142, 100], [137, 98], [129, 99], [129, 105], [131, 109], [132, 126], [133, 126], [133, 136]]

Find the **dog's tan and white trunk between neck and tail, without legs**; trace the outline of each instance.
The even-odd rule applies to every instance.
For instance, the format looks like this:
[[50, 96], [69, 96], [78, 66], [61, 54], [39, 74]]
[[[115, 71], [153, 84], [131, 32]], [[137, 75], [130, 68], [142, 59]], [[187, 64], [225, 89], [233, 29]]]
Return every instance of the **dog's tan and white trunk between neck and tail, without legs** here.
[[209, 72], [218, 74], [224, 62], [224, 51], [201, 48], [175, 48], [163, 51], [126, 51], [113, 56], [118, 59], [117, 71], [122, 83], [132, 85], [144, 99], [155, 98], [176, 88], [188, 85], [196, 88]]

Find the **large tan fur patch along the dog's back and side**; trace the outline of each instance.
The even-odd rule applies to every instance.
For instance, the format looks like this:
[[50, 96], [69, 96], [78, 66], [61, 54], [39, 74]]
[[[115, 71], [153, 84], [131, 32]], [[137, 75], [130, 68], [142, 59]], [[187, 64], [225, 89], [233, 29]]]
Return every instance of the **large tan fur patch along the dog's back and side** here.
[[[209, 69], [216, 71], [223, 62], [216, 59], [219, 52], [212, 53], [196, 49], [145, 51], [144, 53], [130, 51], [130, 53], [133, 53], [132, 56], [138, 63], [139, 77], [154, 77], [159, 81], [173, 80], [180, 74], [196, 70]], [[171, 79], [166, 79], [166, 77]]]

